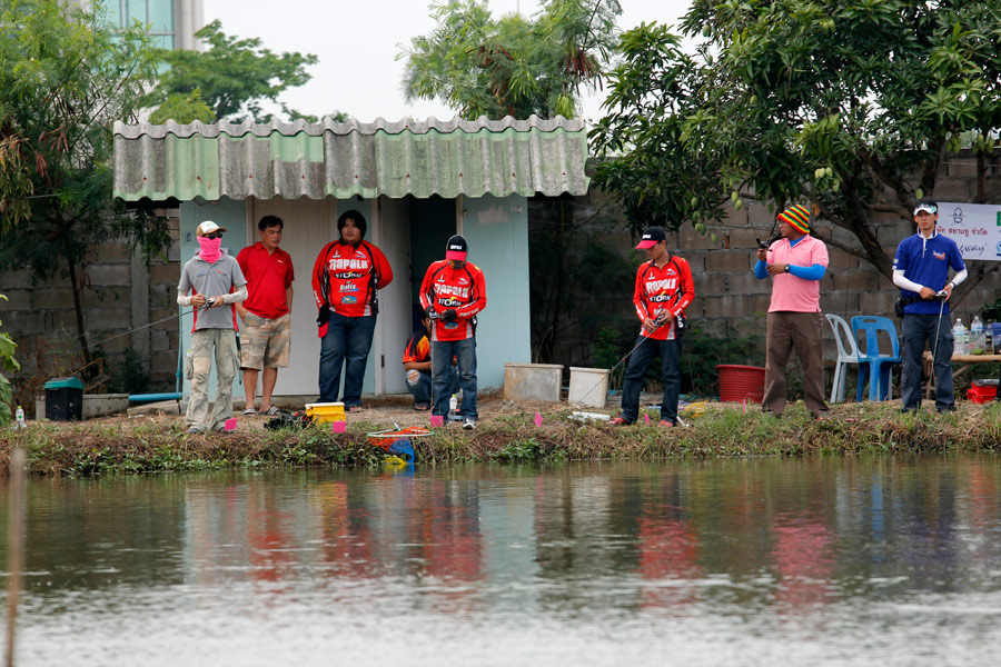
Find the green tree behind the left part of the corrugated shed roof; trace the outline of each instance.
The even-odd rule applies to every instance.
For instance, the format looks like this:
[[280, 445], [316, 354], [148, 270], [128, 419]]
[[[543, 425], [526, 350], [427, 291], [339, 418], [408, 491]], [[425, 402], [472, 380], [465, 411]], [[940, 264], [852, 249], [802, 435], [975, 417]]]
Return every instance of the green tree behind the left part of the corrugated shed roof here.
[[[205, 51], [160, 50], [168, 64], [157, 87], [147, 98], [149, 107], [159, 106], [158, 119], [174, 118], [179, 122], [204, 120], [207, 106], [212, 120], [267, 122], [272, 115], [264, 104], [279, 104], [283, 113], [316, 120], [289, 109], [278, 97], [289, 88], [303, 86], [311, 78], [306, 68], [316, 64], [311, 53], [272, 53], [261, 47], [259, 39], [237, 39], [222, 32], [219, 21], [212, 21], [195, 33]], [[182, 115], [181, 118], [172, 113]]]

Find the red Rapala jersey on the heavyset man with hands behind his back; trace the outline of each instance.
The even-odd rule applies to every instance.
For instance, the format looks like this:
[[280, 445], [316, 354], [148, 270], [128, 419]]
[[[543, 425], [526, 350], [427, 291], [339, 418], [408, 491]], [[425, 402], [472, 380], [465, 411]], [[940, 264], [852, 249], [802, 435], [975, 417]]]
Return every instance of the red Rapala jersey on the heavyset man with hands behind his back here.
[[316, 307], [325, 305], [345, 317], [364, 317], [373, 309], [376, 290], [393, 280], [393, 269], [383, 251], [361, 241], [357, 246], [340, 240], [324, 246], [313, 267]]

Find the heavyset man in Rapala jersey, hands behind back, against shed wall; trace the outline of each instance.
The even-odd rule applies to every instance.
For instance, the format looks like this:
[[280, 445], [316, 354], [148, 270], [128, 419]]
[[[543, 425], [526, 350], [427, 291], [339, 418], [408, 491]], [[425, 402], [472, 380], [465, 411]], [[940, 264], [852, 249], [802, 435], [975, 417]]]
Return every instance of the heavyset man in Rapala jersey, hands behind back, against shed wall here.
[[379, 311], [378, 290], [393, 280], [383, 251], [361, 240], [366, 228], [360, 212], [344, 212], [337, 219], [340, 238], [324, 246], [313, 267], [321, 339], [319, 402], [337, 401], [344, 366], [344, 407], [348, 412], [361, 410], [365, 364]]

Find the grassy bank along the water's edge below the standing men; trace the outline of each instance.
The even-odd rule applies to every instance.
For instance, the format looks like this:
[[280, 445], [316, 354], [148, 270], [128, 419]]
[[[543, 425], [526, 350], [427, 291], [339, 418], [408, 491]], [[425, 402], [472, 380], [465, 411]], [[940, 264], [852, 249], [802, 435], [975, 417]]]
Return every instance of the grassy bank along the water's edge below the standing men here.
[[[500, 415], [473, 431], [456, 426], [414, 441], [418, 465], [458, 461], [553, 461], [583, 459], [713, 458], [745, 456], [853, 455], [861, 452], [993, 451], [1001, 444], [1001, 408], [964, 404], [958, 412], [899, 414], [896, 404], [836, 406], [834, 419], [816, 422], [802, 407], [782, 419], [756, 408], [710, 406], [690, 416], [687, 428], [663, 429], [579, 422], [568, 409]], [[329, 428], [267, 430], [259, 424], [232, 434], [188, 436], [179, 418], [108, 419], [85, 424], [34, 424], [0, 437], [0, 472], [10, 448], [28, 450], [29, 472], [89, 476], [166, 470], [255, 467], [344, 467], [384, 465], [366, 434], [389, 428], [376, 416], [350, 421], [346, 434]], [[653, 424], [656, 424], [654, 417]]]

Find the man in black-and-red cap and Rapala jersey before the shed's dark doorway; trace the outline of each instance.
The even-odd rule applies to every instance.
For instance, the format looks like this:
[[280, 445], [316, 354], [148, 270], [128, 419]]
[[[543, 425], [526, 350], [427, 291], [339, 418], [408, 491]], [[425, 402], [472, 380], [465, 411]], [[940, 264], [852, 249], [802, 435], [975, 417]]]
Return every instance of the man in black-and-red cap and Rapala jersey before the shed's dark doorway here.
[[432, 319], [432, 415], [448, 415], [452, 358], [458, 360], [463, 428], [476, 428], [476, 313], [486, 307], [483, 271], [466, 261], [468, 246], [462, 236], [445, 245], [445, 259], [434, 262], [420, 285], [420, 306]]

